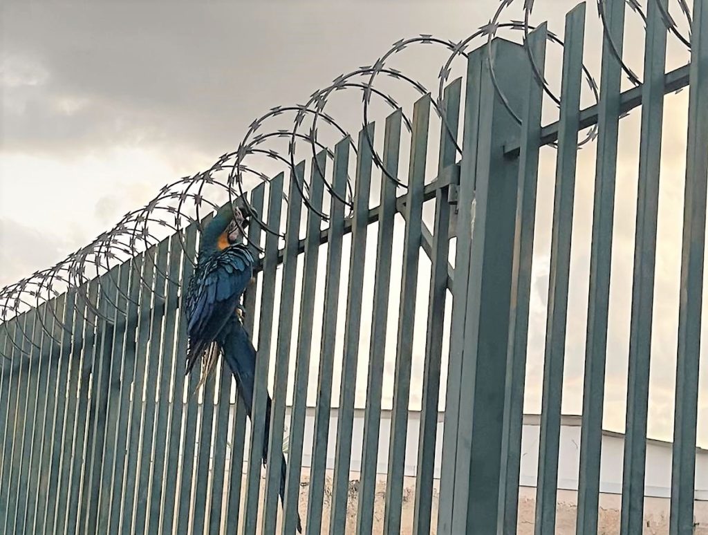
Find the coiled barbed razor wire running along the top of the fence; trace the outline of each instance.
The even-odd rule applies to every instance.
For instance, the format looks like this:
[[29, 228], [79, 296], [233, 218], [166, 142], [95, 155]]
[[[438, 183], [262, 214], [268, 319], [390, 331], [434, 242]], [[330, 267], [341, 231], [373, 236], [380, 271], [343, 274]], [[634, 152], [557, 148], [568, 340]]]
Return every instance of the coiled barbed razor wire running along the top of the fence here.
[[[638, 86], [641, 84], [639, 77], [624, 61], [622, 54], [619, 54], [619, 48], [607, 30], [606, 1], [597, 1], [603, 39], [610, 45], [610, 52], [622, 66], [629, 81]], [[641, 18], [646, 28], [646, 14], [639, 0], [625, 1], [627, 6], [636, 13], [636, 16]], [[691, 11], [686, 0], [672, 0], [669, 8], [665, 8], [661, 0], [645, 0], [646, 2], [656, 3], [661, 20], [666, 25], [668, 32], [682, 42], [687, 50], [690, 50]], [[331, 197], [340, 200], [351, 210], [354, 201], [354, 188], [350, 176], [347, 176], [346, 191], [341, 195], [326, 178], [324, 168], [319, 168], [319, 159], [316, 158], [321, 153], [326, 156], [327, 160], [334, 160], [334, 152], [330, 144], [319, 140], [320, 129], [336, 135], [339, 139], [347, 139], [350, 149], [355, 154], [358, 150], [352, 141], [350, 132], [341, 125], [341, 121], [328, 112], [328, 106], [331, 108], [331, 103], [338, 94], [361, 93], [361, 125], [372, 154], [372, 161], [376, 168], [382, 172], [383, 179], [392, 180], [396, 187], [405, 190], [406, 181], [399, 176], [394, 176], [384, 166], [382, 156], [375, 148], [374, 139], [366, 126], [370, 124], [370, 108], [375, 101], [382, 103], [390, 110], [401, 109], [399, 101], [394, 97], [394, 92], [384, 91], [381, 86], [377, 85], [382, 79], [392, 81], [396, 87], [412, 89], [418, 96], [430, 94], [428, 88], [420, 81], [392, 67], [392, 63], [401, 54], [417, 50], [418, 46], [438, 47], [446, 54], [445, 61], [442, 62], [442, 67], [437, 74], [437, 95], [431, 98], [431, 104], [447, 132], [450, 132], [450, 123], [445, 117], [443, 94], [445, 86], [450, 80], [453, 65], [459, 59], [466, 59], [468, 50], [472, 50], [473, 45], [477, 47], [484, 44], [485, 41], [490, 42], [499, 33], [510, 32], [521, 35], [535, 80], [542, 86], [544, 94], [556, 105], [559, 105], [561, 102], [559, 92], [554, 91], [540, 74], [542, 69], [539, 69], [537, 60], [532, 56], [530, 47], [527, 46], [529, 33], [535, 29], [535, 25], [530, 22], [534, 4], [534, 0], [523, 0], [523, 2], [521, 0], [501, 0], [489, 22], [463, 40], [445, 40], [426, 34], [401, 39], [396, 41], [373, 64], [360, 67], [348, 74], [341, 74], [333, 79], [329, 86], [314, 91], [306, 103], [270, 108], [261, 117], [251, 122], [244, 139], [236, 147], [236, 150], [219, 156], [207, 171], [194, 176], [186, 176], [164, 185], [147, 205], [125, 214], [118, 224], [113, 226], [113, 229], [103, 232], [88, 245], [68, 255], [56, 265], [35, 272], [30, 277], [0, 289], [0, 321], [2, 321], [0, 329], [6, 331], [9, 342], [6, 352], [2, 355], [9, 358], [8, 354], [13, 351], [13, 348], [19, 350], [20, 354], [39, 349], [35, 343], [37, 338], [33, 337], [32, 333], [25, 331], [21, 321], [16, 322], [16, 331], [10, 333], [8, 320], [23, 311], [37, 308], [42, 304], [45, 305], [47, 312], [44, 315], [38, 315], [42, 333], [52, 340], [60, 341], [59, 337], [62, 336], [62, 333], [68, 333], [69, 329], [63, 321], [64, 313], [57, 310], [56, 298], [67, 290], [74, 292], [75, 313], [89, 328], [96, 325], [98, 318], [113, 321], [115, 313], [124, 315], [125, 311], [118, 308], [117, 301], [137, 303], [133, 297], [120, 288], [118, 280], [115, 279], [113, 268], [126, 262], [131, 263], [131, 267], [133, 267], [132, 263], [135, 263], [139, 253], [144, 253], [147, 256], [156, 270], [156, 275], [164, 277], [167, 284], [181, 284], [180, 280], [174, 280], [168, 273], [163, 272], [154, 261], [154, 246], [161, 239], [173, 234], [183, 248], [186, 260], [195, 264], [196, 258], [185, 246], [184, 230], [190, 224], [197, 224], [201, 229], [202, 218], [206, 214], [212, 213], [219, 205], [227, 200], [234, 202], [236, 199], [245, 198], [246, 193], [258, 183], [269, 183], [273, 175], [258, 168], [254, 164], [256, 159], [265, 158], [275, 164], [285, 166], [285, 169], [295, 177], [295, 180], [291, 182], [294, 187], [290, 188], [287, 194], [283, 194], [283, 202], [302, 202], [309, 212], [323, 221], [327, 221], [329, 220], [328, 214], [322, 209], [316, 209], [309, 200], [309, 183], [304, 176], [297, 176], [295, 173], [298, 146], [300, 144], [309, 146], [313, 164], [318, 166], [316, 174], [324, 178], [326, 191]], [[510, 18], [508, 11], [512, 7], [520, 8], [523, 18], [520, 20]], [[681, 32], [671, 14], [677, 8], [688, 23], [687, 35]], [[564, 40], [550, 30], [547, 31], [547, 40], [559, 47], [564, 46]], [[520, 110], [513, 109], [497, 83], [491, 47], [488, 47], [488, 50], [490, 50], [487, 60], [491, 81], [497, 96], [510, 115], [521, 124], [518, 113]], [[583, 79], [586, 81], [593, 99], [597, 102], [599, 100], [598, 84], [585, 65], [583, 65]], [[412, 131], [411, 120], [402, 110], [401, 119], [406, 131], [410, 134]], [[283, 128], [283, 120], [289, 120], [292, 126]], [[578, 146], [593, 141], [596, 136], [596, 125], [589, 127], [586, 129], [583, 139], [578, 142]], [[462, 153], [462, 149], [457, 144], [456, 149], [459, 154]], [[280, 229], [268, 226], [261, 218], [261, 214], [256, 213], [248, 204], [246, 204], [246, 211], [249, 212], [250, 224], [260, 226], [268, 234], [284, 237], [280, 233]], [[251, 246], [256, 248], [256, 251], [262, 252], [258, 243], [251, 243]], [[143, 289], [156, 293], [155, 297], [164, 298], [164, 295], [159, 294], [159, 290], [153, 289], [152, 284], [144, 279], [141, 270], [136, 268], [132, 272], [139, 277]], [[92, 298], [89, 295], [89, 281], [101, 276], [103, 277], [99, 280], [98, 292], [95, 292], [96, 297]], [[98, 306], [99, 298], [101, 299], [101, 307]]]

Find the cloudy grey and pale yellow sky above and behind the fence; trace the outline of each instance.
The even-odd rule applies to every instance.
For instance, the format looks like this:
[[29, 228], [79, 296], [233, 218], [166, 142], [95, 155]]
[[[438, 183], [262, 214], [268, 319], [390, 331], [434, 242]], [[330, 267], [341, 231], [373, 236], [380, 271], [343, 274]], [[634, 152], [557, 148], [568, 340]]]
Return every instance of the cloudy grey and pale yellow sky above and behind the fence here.
[[[503, 18], [520, 18], [519, 4]], [[562, 35], [564, 12], [573, 5], [537, 0], [532, 22], [548, 20], [549, 28]], [[219, 155], [235, 149], [251, 121], [269, 108], [304, 103], [338, 74], [372, 64], [401, 38], [423, 33], [461, 40], [489, 21], [497, 6], [496, 0], [4, 2], [0, 12], [0, 286], [61, 260], [113, 226], [122, 214], [146, 204], [162, 185], [209, 168]], [[675, 6], [672, 10], [685, 29]], [[632, 13], [627, 14], [626, 32], [624, 57], [641, 74], [643, 30]], [[518, 41], [520, 35], [507, 32], [503, 37]], [[600, 42], [598, 16], [590, 3], [584, 62], [598, 80]], [[548, 58], [547, 77], [557, 92], [561, 49], [550, 46]], [[418, 47], [415, 53], [401, 54], [392, 66], [436, 93], [436, 76], [445, 59], [447, 54], [440, 50]], [[670, 38], [668, 69], [687, 59], [683, 45]], [[458, 60], [452, 77], [462, 74], [464, 63]], [[623, 88], [629, 88], [628, 81]], [[415, 93], [395, 84], [387, 89], [410, 113]], [[583, 107], [593, 102], [586, 87], [581, 101]], [[343, 125], [356, 132], [362, 122], [360, 95], [334, 105]], [[379, 122], [383, 110], [375, 108]], [[671, 439], [673, 429], [686, 110], [687, 91], [667, 96], [649, 412], [649, 436], [658, 439]], [[547, 99], [544, 122], [556, 117], [557, 110]], [[431, 119], [431, 132], [439, 128], [439, 122]], [[379, 141], [382, 130], [381, 125]], [[620, 127], [605, 390], [605, 427], [620, 432], [627, 389], [638, 139], [639, 110], [635, 110]], [[525, 400], [525, 410], [531, 413], [539, 412], [542, 392], [554, 157], [553, 149], [542, 149]], [[263, 165], [270, 172], [268, 164]], [[582, 406], [594, 166], [595, 144], [588, 144], [578, 155], [564, 413], [577, 414]], [[406, 168], [401, 164], [401, 169]], [[429, 166], [428, 175], [435, 176], [434, 166]], [[402, 229], [399, 222], [396, 235]], [[367, 258], [374, 258], [376, 231], [376, 226], [369, 229]], [[345, 266], [348, 243], [344, 243]], [[326, 250], [320, 254], [324, 259]], [[394, 252], [394, 258], [400, 257]], [[413, 408], [420, 403], [416, 392], [422, 367], [418, 364], [425, 340], [420, 322], [425, 318], [429, 275], [429, 263], [425, 255], [421, 258]], [[371, 264], [366, 277], [370, 289]], [[389, 326], [395, 326], [396, 296], [392, 292]], [[341, 301], [346, 301], [346, 294]], [[364, 303], [363, 313], [370, 318], [370, 303]], [[340, 316], [343, 320], [343, 311]], [[370, 321], [362, 323], [358, 405], [365, 396], [362, 362], [370, 332]], [[317, 336], [314, 347], [319, 347]], [[384, 405], [392, 395], [395, 342], [395, 330], [389, 328]], [[341, 344], [340, 337], [338, 348]], [[699, 443], [708, 447], [705, 362], [703, 357]], [[341, 373], [338, 368], [335, 372]], [[337, 375], [335, 383], [333, 398], [337, 399]], [[316, 384], [316, 366], [311, 384]]]

